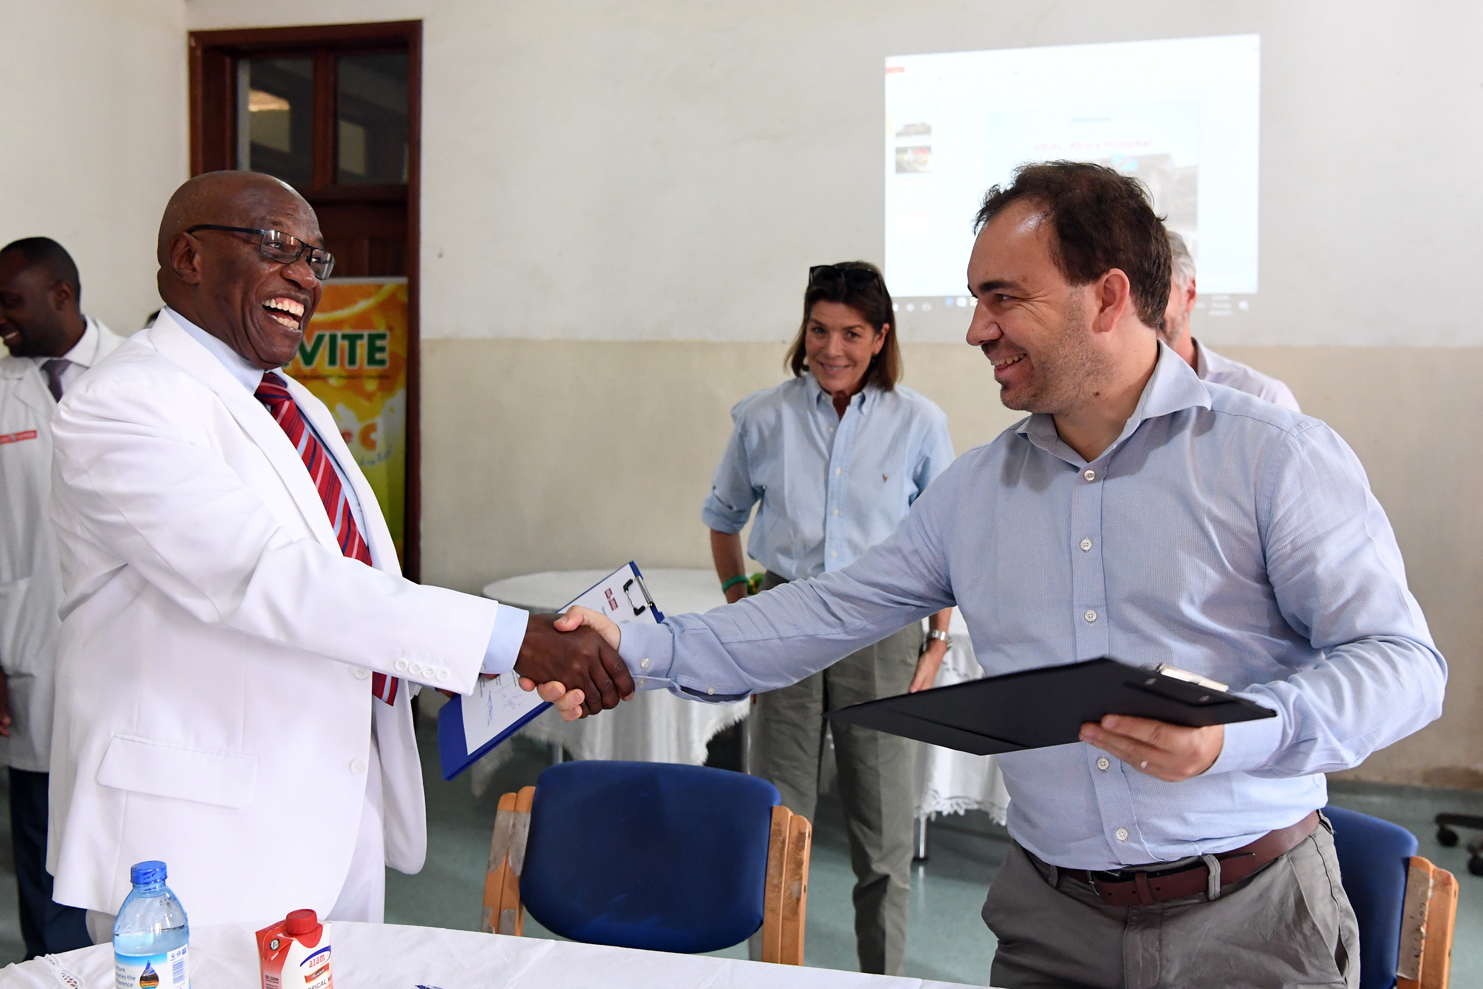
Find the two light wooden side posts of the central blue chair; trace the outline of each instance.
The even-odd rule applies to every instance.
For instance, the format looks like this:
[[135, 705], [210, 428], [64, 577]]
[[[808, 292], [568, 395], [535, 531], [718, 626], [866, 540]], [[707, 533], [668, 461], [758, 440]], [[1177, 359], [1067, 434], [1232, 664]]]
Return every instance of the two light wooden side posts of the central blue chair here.
[[[489, 866], [483, 876], [483, 918], [479, 930], [486, 934], [525, 933], [525, 904], [521, 903], [521, 867], [525, 841], [531, 833], [531, 804], [535, 787], [500, 798], [489, 839]], [[786, 807], [773, 808], [767, 839], [767, 887], [762, 894], [762, 961], [782, 965], [804, 964], [804, 925], [808, 916], [808, 854], [814, 830], [808, 820]], [[1455, 896], [1455, 894], [1453, 894]]]

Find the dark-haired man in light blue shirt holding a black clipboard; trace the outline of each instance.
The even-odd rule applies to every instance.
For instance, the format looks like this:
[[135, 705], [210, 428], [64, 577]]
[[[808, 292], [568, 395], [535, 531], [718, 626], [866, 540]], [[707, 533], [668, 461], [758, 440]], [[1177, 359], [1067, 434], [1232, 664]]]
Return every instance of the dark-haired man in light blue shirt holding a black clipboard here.
[[983, 909], [991, 982], [1352, 989], [1323, 774], [1436, 719], [1446, 684], [1364, 470], [1158, 343], [1169, 248], [1133, 179], [1026, 166], [979, 227], [968, 343], [1031, 415], [851, 566], [626, 626], [620, 654], [641, 689], [731, 700], [957, 603], [989, 673], [1111, 655], [1223, 681], [1277, 716], [1108, 716], [1000, 756], [1016, 847]]

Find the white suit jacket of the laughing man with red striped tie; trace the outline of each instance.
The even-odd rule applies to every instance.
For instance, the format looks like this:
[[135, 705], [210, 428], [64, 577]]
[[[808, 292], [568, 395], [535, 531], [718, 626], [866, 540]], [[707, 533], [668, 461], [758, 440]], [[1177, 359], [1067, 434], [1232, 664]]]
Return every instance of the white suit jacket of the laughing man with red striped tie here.
[[386, 861], [423, 866], [409, 694], [469, 692], [498, 605], [397, 572], [331, 412], [294, 400], [354, 486], [368, 568], [267, 409], [166, 310], [62, 396], [52, 517], [62, 578], [47, 870], [113, 913], [162, 859], [199, 925], [322, 916], [344, 885], [375, 719]]

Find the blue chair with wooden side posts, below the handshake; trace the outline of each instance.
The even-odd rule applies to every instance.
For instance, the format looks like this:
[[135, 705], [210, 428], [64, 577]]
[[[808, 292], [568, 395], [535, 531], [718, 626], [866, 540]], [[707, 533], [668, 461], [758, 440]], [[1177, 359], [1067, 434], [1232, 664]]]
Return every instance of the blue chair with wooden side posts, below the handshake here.
[[553, 765], [500, 802], [483, 930], [529, 910], [575, 942], [693, 953], [762, 928], [764, 961], [802, 964], [811, 829], [779, 799], [725, 770]]

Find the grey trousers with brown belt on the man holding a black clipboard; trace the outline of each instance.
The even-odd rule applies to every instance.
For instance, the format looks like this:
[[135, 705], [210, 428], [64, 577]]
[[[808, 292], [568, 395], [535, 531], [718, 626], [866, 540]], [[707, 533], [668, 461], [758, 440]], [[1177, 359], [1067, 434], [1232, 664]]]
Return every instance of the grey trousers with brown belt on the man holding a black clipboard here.
[[1004, 989], [1360, 985], [1360, 931], [1323, 821], [1256, 875], [1152, 906], [1108, 906], [1016, 842], [983, 922], [1000, 939]]

